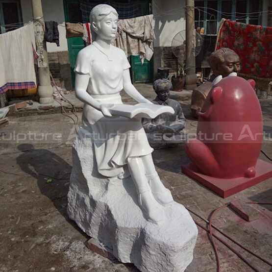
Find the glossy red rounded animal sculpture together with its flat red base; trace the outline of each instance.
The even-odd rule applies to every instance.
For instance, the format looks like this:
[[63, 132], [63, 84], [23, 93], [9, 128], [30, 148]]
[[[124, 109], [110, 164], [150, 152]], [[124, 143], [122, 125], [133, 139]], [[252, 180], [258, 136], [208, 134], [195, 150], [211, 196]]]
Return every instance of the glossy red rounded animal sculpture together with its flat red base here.
[[[258, 160], [263, 140], [263, 120], [254, 86], [254, 80], [245, 80], [236, 73], [224, 78], [218, 76], [201, 111], [198, 111], [197, 138], [189, 139], [185, 145], [192, 164], [182, 166], [182, 172], [223, 197], [253, 185], [251, 182], [249, 186], [242, 186], [241, 190], [228, 188], [232, 190], [226, 195], [222, 193], [227, 190], [222, 185], [226, 179], [234, 182], [235, 187], [235, 180], [247, 182], [248, 178], [255, 177], [255, 181], [258, 179], [260, 182], [268, 178], [259, 178], [262, 174], [260, 163], [263, 162]], [[260, 162], [257, 164], [257, 161]]]

